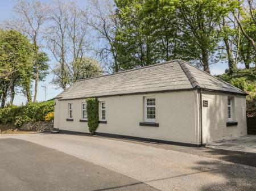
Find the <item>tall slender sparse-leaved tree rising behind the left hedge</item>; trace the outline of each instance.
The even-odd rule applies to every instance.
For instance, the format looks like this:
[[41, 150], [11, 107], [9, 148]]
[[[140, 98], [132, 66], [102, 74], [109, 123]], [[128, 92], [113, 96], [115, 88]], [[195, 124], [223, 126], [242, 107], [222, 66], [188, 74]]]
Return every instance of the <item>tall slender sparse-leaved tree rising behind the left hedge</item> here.
[[[38, 92], [40, 74], [39, 46], [42, 40], [43, 26], [47, 22], [48, 6], [40, 1], [18, 0], [14, 6], [14, 18], [5, 21], [5, 27], [16, 29], [28, 36], [34, 45], [34, 102]], [[44, 72], [44, 71], [42, 71]]]

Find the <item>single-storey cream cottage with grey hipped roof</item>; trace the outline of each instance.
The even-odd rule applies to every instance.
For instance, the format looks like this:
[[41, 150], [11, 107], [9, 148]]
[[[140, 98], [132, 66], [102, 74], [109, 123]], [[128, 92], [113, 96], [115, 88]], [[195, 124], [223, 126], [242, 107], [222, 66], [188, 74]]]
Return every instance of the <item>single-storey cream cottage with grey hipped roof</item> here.
[[55, 97], [55, 128], [89, 133], [86, 98], [100, 101], [99, 135], [200, 146], [246, 135], [246, 93], [182, 60], [74, 83]]

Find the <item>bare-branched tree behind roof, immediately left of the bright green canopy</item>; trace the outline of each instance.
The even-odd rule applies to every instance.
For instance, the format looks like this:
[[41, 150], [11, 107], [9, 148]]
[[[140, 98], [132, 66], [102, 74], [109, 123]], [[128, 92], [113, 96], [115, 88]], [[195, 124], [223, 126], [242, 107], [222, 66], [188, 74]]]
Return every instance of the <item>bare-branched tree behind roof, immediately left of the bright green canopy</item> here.
[[110, 0], [90, 1], [90, 17], [86, 17], [85, 23], [97, 33], [97, 40], [100, 41], [100, 46], [96, 48], [97, 55], [101, 61], [105, 62], [108, 67], [106, 70], [118, 72], [120, 66], [118, 63], [118, 53], [115, 48], [117, 43], [116, 31], [119, 28], [119, 21], [115, 15], [115, 7]]

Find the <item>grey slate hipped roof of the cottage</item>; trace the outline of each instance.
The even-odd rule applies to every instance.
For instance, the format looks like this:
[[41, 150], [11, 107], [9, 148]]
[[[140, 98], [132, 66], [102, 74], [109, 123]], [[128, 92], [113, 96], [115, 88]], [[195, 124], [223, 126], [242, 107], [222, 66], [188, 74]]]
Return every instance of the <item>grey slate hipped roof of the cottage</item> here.
[[246, 95], [238, 88], [205, 73], [182, 60], [79, 80], [56, 96], [59, 100], [140, 94], [146, 92], [181, 91], [203, 88]]

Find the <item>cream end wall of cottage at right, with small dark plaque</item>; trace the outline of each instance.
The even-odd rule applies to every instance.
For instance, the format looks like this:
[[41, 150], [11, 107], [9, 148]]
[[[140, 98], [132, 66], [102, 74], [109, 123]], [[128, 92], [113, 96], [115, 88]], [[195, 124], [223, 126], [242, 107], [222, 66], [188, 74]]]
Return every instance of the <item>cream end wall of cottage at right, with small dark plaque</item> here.
[[[228, 97], [233, 97], [233, 121], [237, 126], [226, 126], [228, 122]], [[240, 137], [247, 134], [245, 96], [221, 94], [204, 91], [203, 100], [208, 100], [208, 107], [203, 107], [203, 143]]]

